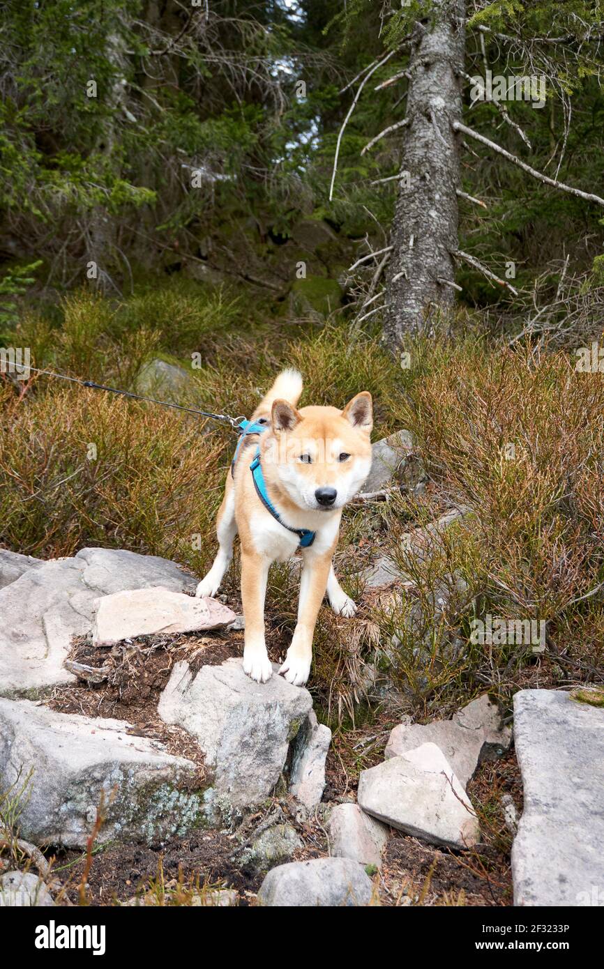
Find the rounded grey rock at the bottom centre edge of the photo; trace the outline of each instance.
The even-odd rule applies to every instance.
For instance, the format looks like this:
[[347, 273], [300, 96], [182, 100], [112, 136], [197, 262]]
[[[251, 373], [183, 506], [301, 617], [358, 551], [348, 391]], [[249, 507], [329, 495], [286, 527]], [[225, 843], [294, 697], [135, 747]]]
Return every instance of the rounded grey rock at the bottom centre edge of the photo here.
[[258, 892], [267, 906], [366, 906], [373, 886], [363, 867], [347, 858], [290, 861], [272, 868]]

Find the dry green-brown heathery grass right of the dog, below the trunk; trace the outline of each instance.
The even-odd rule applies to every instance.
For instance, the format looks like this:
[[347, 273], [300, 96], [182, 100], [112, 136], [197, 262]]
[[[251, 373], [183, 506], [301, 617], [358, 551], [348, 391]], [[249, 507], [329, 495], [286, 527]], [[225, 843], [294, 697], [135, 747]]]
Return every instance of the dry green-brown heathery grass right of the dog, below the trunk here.
[[[604, 630], [604, 383], [554, 352], [534, 359], [480, 340], [423, 348], [403, 423], [432, 481], [469, 510], [404, 545], [408, 509], [393, 508], [394, 553], [414, 583], [382, 616], [395, 635], [395, 674], [428, 716], [485, 687], [509, 699], [540, 671], [549, 684], [602, 679]], [[415, 517], [426, 520], [426, 503]], [[444, 608], [435, 608], [442, 597]], [[491, 613], [545, 623], [546, 648], [470, 640]], [[422, 644], [420, 646], [420, 644]]]

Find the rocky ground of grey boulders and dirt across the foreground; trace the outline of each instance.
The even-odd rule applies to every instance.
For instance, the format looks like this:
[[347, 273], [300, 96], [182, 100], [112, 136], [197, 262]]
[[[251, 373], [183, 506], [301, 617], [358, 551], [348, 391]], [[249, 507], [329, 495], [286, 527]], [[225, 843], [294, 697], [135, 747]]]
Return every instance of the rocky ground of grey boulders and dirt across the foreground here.
[[[368, 494], [393, 472], [421, 489], [409, 449], [374, 446]], [[407, 578], [384, 554], [365, 580], [379, 594]], [[276, 666], [267, 684], [244, 675], [237, 600], [194, 586], [126, 550], [0, 551], [5, 904], [590, 904], [595, 694], [518, 692], [518, 763], [487, 692], [425, 724], [383, 703], [344, 744]]]

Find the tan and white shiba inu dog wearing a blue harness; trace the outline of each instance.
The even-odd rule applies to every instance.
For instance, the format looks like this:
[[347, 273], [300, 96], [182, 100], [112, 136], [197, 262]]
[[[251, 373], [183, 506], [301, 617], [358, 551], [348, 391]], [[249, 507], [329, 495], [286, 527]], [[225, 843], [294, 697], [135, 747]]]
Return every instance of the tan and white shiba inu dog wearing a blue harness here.
[[241, 599], [245, 617], [243, 670], [270, 679], [265, 644], [265, 594], [272, 562], [300, 547], [302, 579], [298, 622], [279, 672], [296, 686], [308, 679], [312, 638], [326, 589], [335, 613], [356, 606], [340, 587], [332, 556], [342, 508], [359, 491], [371, 466], [371, 395], [358, 393], [342, 411], [302, 407], [302, 376], [279, 374], [243, 433], [216, 522], [218, 553], [198, 596], [213, 596], [229, 567], [237, 533], [241, 543]]

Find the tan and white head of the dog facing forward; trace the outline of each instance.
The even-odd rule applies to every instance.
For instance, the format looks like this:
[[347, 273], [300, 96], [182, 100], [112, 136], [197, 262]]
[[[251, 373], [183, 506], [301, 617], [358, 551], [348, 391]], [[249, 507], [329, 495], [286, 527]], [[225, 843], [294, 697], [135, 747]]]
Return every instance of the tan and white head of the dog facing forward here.
[[302, 407], [274, 400], [271, 433], [263, 448], [269, 480], [303, 511], [342, 508], [360, 490], [371, 467], [371, 394], [344, 407]]

